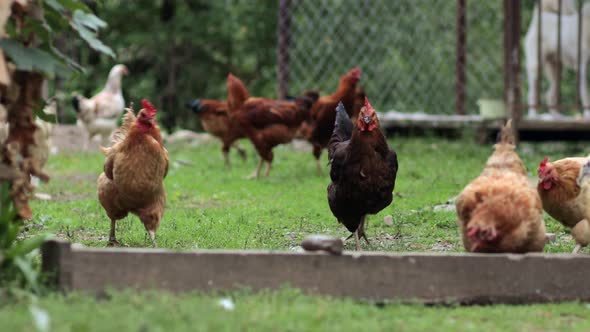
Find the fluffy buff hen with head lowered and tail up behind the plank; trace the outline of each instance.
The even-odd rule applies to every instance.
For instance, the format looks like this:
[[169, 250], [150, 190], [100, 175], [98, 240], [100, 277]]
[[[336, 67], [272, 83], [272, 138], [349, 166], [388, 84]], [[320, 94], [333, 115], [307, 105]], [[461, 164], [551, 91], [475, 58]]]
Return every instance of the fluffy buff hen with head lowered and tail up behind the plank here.
[[543, 207], [515, 151], [511, 120], [494, 149], [483, 172], [457, 197], [463, 246], [482, 253], [543, 251]]

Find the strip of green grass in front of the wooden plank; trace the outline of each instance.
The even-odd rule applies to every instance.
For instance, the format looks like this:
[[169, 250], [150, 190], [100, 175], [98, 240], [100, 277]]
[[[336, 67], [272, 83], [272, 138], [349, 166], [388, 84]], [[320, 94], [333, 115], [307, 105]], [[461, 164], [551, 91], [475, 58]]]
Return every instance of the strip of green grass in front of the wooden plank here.
[[[488, 307], [374, 305], [350, 299], [305, 296], [299, 291], [231, 295], [233, 311], [219, 300], [227, 294], [114, 293], [108, 300], [51, 295], [52, 331], [588, 331], [590, 308], [583, 303]], [[33, 331], [24, 304], [0, 309], [3, 331]]]

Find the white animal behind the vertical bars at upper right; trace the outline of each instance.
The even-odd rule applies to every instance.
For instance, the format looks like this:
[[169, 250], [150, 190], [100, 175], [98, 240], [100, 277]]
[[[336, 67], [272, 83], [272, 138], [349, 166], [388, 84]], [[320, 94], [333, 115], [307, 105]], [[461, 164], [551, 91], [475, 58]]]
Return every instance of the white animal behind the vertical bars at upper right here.
[[[561, 60], [565, 68], [577, 70], [578, 62], [578, 13], [575, 0], [562, 0], [561, 15]], [[541, 2], [541, 65], [549, 80], [549, 89], [545, 96], [550, 112], [555, 117], [561, 114], [557, 111], [557, 24], [558, 24], [558, 0], [542, 0]], [[538, 77], [538, 10], [535, 5], [533, 18], [524, 40], [526, 56], [526, 70], [528, 79], [528, 115], [537, 115], [535, 105], [539, 91], [537, 91]], [[590, 117], [590, 96], [588, 95], [586, 69], [590, 57], [590, 3], [582, 7], [582, 47], [580, 61], [580, 96], [584, 106], [584, 117]]]

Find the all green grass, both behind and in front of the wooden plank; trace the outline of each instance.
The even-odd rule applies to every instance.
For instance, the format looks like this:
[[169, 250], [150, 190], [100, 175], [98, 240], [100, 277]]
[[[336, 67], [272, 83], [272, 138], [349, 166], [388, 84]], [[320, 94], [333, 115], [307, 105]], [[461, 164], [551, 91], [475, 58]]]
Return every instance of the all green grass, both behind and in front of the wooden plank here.
[[[454, 211], [433, 207], [456, 196], [481, 171], [492, 151], [468, 140], [394, 138], [400, 168], [391, 206], [369, 218], [370, 245], [364, 250], [462, 251]], [[169, 146], [172, 165], [165, 180], [168, 206], [158, 230], [158, 246], [171, 249], [236, 248], [293, 250], [308, 234], [347, 236], [332, 216], [326, 199], [328, 168], [317, 175], [310, 152], [293, 146], [275, 150], [268, 178], [245, 180], [257, 158], [232, 154], [233, 167], [223, 166], [218, 144]], [[544, 156], [552, 159], [585, 155], [583, 144], [522, 144], [519, 153], [532, 171]], [[326, 157], [324, 156], [324, 161]], [[174, 163], [181, 161], [181, 163]], [[188, 161], [191, 165], [186, 165]], [[35, 217], [23, 237], [42, 232], [105, 246], [110, 223], [96, 199], [95, 180], [102, 170], [99, 153], [54, 156], [46, 169], [52, 181], [37, 191], [52, 196], [33, 202]], [[391, 214], [393, 226], [383, 223]], [[570, 251], [574, 242], [560, 224], [545, 218], [557, 234], [547, 252]], [[150, 242], [137, 217], [118, 223], [120, 242], [131, 247]], [[346, 244], [352, 249], [352, 242]], [[553, 331], [588, 330], [585, 304], [535, 306], [424, 307], [388, 304], [383, 307], [346, 299], [306, 296], [294, 290], [233, 292], [236, 310], [225, 312], [218, 294], [113, 293], [108, 300], [73, 294], [52, 294], [39, 300], [57, 331], [97, 330], [432, 330]], [[227, 294], [226, 294], [227, 296]], [[0, 301], [1, 302], [1, 301]], [[27, 301], [0, 306], [0, 326], [28, 330]]]

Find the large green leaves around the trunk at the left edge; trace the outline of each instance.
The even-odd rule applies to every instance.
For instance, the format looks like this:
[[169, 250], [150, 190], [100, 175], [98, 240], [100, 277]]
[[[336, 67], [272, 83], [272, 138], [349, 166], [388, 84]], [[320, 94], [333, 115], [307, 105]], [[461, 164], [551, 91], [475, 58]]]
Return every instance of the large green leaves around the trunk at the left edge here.
[[[86, 5], [77, 0], [44, 0], [43, 14], [30, 14], [22, 18], [24, 24], [16, 26], [10, 20], [7, 26], [9, 38], [0, 40], [0, 48], [22, 71], [41, 72], [47, 77], [65, 76], [68, 68], [80, 69], [72, 59], [63, 55], [55, 46], [57, 34], [71, 28], [89, 46], [114, 57], [113, 51], [103, 44], [96, 34], [106, 23], [90, 13]], [[32, 11], [34, 12], [34, 11]], [[31, 41], [35, 41], [31, 43]], [[35, 114], [44, 120], [51, 117], [41, 109]], [[38, 235], [19, 241], [23, 221], [17, 217], [12, 202], [11, 185], [0, 183], [0, 286], [16, 284], [38, 293], [39, 271], [32, 253], [49, 238]]]

